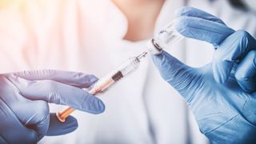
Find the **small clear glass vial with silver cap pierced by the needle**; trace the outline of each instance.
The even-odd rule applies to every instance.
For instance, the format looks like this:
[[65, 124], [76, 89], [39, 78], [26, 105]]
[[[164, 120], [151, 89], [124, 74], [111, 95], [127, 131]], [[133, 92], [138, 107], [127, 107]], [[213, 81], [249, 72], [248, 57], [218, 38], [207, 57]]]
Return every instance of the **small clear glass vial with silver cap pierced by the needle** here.
[[173, 21], [160, 30], [154, 38], [150, 39], [150, 41], [147, 42], [147, 47], [150, 54], [160, 54], [163, 49], [179, 42], [182, 38], [184, 37], [175, 29]]

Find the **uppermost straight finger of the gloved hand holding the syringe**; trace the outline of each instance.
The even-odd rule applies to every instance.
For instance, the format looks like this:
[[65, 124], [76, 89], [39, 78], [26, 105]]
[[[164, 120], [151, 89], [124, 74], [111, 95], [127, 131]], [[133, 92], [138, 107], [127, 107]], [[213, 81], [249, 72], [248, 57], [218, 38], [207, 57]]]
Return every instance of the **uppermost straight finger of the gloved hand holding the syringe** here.
[[62, 70], [26, 70], [14, 74], [27, 80], [52, 80], [79, 88], [87, 88], [94, 82], [98, 81], [98, 78], [92, 74]]

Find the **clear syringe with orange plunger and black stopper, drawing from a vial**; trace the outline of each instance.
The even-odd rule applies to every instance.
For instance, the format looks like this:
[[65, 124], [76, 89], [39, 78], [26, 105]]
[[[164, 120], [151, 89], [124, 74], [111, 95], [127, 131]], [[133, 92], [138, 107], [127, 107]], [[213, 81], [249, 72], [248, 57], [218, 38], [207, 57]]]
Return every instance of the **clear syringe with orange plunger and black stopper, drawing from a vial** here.
[[[118, 66], [116, 70], [107, 74], [105, 77], [100, 78], [94, 85], [90, 86], [89, 93], [92, 95], [97, 95], [105, 92], [113, 86], [120, 79], [125, 78], [128, 74], [131, 74], [136, 70], [141, 62], [141, 59], [146, 56], [147, 52], [139, 54], [137, 57], [131, 57], [126, 62], [122, 63], [121, 66]], [[65, 110], [56, 113], [56, 116], [60, 122], [65, 122], [66, 118], [74, 112], [72, 107], [67, 107]]]

